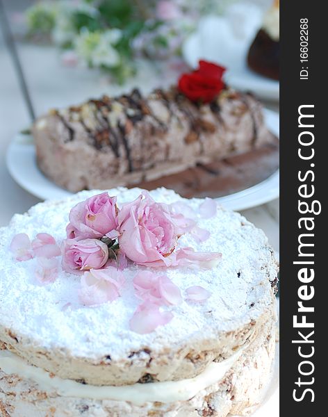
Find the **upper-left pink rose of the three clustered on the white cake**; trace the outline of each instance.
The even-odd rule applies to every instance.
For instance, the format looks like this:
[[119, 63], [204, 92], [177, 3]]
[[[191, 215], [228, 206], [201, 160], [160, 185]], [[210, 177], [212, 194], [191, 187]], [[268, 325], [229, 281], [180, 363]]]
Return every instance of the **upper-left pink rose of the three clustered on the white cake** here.
[[94, 195], [76, 204], [69, 213], [67, 238], [117, 238], [116, 197]]

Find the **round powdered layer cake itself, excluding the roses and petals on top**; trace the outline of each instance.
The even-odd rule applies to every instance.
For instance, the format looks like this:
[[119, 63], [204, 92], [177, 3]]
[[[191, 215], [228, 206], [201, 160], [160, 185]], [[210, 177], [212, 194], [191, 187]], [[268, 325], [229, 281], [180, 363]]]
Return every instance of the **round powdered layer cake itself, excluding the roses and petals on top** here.
[[[97, 193], [38, 204], [0, 229], [1, 417], [225, 417], [252, 411], [270, 379], [277, 320], [277, 263], [263, 232], [214, 202], [211, 217], [202, 215], [208, 199], [154, 190], [149, 196], [156, 204], [183, 208], [208, 233], [202, 242], [183, 234], [173, 253], [191, 247], [222, 258], [207, 269], [190, 264], [158, 270], [129, 261], [120, 296], [88, 306], [79, 299], [81, 276], [58, 268], [55, 281], [40, 285], [31, 249], [30, 256], [15, 258], [10, 241], [24, 231], [31, 239], [51, 234], [62, 245], [69, 211]], [[117, 197], [119, 213], [140, 193], [108, 192]], [[165, 274], [181, 299], [161, 306], [169, 322], [137, 333], [129, 320], [140, 304], [133, 291], [140, 273]], [[187, 299], [190, 286], [203, 287], [207, 296]]]

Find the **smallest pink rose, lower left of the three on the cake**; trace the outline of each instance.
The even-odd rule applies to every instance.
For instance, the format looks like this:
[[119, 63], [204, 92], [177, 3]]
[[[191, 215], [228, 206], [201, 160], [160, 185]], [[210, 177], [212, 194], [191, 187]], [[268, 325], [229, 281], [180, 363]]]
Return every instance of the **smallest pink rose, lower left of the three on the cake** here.
[[108, 261], [108, 247], [97, 239], [66, 239], [63, 244], [63, 269], [73, 274], [99, 269]]

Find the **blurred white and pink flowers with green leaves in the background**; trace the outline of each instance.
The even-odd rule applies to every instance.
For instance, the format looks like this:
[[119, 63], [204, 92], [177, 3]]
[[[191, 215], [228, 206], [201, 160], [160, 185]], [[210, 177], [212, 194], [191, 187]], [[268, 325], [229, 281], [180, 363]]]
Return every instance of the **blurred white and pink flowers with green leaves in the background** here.
[[28, 34], [50, 38], [65, 50], [69, 65], [76, 61], [98, 67], [123, 83], [136, 71], [133, 58], [181, 54], [199, 17], [210, 10], [219, 13], [231, 1], [39, 1], [27, 10]]

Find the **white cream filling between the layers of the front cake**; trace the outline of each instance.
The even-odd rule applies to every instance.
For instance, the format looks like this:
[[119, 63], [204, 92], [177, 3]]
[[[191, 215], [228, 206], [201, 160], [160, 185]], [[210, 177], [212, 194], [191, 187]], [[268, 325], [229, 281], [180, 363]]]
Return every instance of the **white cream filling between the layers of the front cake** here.
[[31, 379], [43, 391], [56, 391], [62, 397], [117, 400], [142, 405], [146, 402], [168, 403], [190, 400], [199, 391], [220, 382], [231, 366], [233, 366], [233, 363], [238, 360], [243, 350], [244, 347], [240, 348], [224, 361], [210, 363], [202, 373], [194, 378], [125, 386], [95, 386], [81, 384], [71, 379], [51, 377], [46, 370], [28, 365], [24, 359], [8, 350], [0, 351], [0, 368], [8, 375], [15, 374], [22, 379]]

